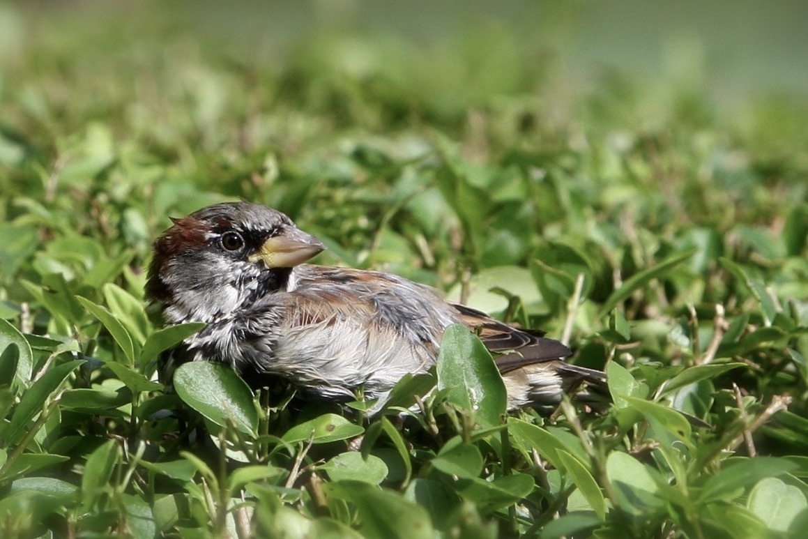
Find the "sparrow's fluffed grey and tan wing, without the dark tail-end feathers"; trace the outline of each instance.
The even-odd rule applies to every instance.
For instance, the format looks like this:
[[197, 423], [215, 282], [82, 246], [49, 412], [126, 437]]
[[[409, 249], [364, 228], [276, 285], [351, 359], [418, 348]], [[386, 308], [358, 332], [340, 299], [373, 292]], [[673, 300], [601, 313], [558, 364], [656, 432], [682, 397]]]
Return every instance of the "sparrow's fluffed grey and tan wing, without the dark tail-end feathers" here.
[[303, 265], [295, 272], [288, 292], [271, 299], [281, 302], [283, 314], [265, 370], [326, 397], [360, 386], [378, 396], [406, 373], [426, 373], [435, 363], [452, 321], [428, 289], [347, 268]]

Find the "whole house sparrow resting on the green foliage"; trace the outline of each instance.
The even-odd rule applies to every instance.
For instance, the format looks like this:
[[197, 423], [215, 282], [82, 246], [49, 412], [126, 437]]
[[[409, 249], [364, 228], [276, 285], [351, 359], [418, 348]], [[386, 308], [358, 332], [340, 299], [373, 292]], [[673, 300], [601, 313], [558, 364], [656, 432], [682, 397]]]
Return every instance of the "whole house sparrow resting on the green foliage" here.
[[187, 360], [229, 364], [251, 385], [276, 375], [318, 398], [363, 390], [384, 402], [406, 373], [426, 373], [451, 324], [475, 331], [496, 357], [511, 409], [558, 403], [604, 373], [568, 364], [570, 349], [516, 329], [432, 288], [384, 272], [305, 263], [325, 246], [260, 204], [214, 204], [154, 243], [146, 293], [170, 323], [206, 322], [183, 343]]

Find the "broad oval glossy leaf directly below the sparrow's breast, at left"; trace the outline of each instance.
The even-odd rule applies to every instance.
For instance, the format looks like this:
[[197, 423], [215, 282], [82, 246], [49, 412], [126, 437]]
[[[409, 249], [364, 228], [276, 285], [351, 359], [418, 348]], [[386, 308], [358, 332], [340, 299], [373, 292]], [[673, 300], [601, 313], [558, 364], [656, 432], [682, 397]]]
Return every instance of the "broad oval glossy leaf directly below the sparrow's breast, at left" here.
[[258, 412], [253, 393], [236, 372], [225, 365], [191, 361], [174, 373], [174, 388], [183, 401], [221, 427], [233, 423], [239, 431], [258, 436]]

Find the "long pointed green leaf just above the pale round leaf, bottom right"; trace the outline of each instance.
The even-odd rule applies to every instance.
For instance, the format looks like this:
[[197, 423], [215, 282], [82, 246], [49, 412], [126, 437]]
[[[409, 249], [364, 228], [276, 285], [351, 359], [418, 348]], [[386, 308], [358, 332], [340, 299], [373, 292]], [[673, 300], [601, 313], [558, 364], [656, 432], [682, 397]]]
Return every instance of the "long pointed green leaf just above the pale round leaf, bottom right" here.
[[763, 478], [788, 474], [796, 469], [797, 465], [793, 462], [775, 457], [739, 458], [707, 479], [698, 503], [734, 499], [739, 488], [750, 486]]

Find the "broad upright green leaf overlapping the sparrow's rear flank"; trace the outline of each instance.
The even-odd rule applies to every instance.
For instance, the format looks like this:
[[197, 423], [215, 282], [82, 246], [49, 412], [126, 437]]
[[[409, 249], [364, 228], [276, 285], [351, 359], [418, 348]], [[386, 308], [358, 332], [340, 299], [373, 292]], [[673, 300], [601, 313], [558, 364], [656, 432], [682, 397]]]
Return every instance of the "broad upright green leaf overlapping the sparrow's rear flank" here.
[[477, 335], [453, 324], [444, 331], [437, 362], [438, 389], [448, 402], [469, 411], [482, 427], [502, 423], [507, 394], [499, 369]]

